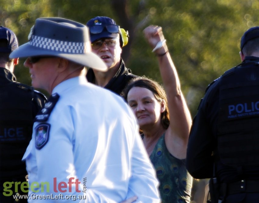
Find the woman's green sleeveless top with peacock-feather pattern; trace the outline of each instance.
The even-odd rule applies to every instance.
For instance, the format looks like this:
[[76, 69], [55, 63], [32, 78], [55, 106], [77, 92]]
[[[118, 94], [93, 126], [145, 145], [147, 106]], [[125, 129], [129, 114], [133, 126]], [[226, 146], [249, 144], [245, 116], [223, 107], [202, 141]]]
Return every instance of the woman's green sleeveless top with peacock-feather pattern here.
[[189, 203], [193, 179], [186, 170], [185, 159], [177, 159], [167, 150], [165, 134], [159, 138], [150, 160], [160, 182], [162, 203]]

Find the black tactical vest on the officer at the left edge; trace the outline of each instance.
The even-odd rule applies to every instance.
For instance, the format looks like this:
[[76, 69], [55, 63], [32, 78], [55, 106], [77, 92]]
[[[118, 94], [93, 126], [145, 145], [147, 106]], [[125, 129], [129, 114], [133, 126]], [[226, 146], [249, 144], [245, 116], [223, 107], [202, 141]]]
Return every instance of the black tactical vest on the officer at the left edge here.
[[0, 94], [0, 180], [25, 181], [21, 159], [32, 135], [33, 90], [12, 82], [0, 86]]

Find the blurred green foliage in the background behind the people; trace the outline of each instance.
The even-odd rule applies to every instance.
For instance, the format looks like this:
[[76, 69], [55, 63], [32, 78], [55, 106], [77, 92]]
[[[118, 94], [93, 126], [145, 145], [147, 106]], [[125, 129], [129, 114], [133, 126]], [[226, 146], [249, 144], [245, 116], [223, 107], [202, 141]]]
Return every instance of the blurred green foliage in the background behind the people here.
[[[208, 84], [241, 62], [243, 33], [259, 26], [257, 0], [0, 0], [0, 5], [1, 25], [16, 33], [20, 45], [28, 41], [39, 17], [62, 17], [83, 24], [98, 15], [111, 17], [130, 33], [122, 53], [126, 67], [160, 84], [158, 62], [144, 40], [143, 29], [150, 24], [161, 26], [192, 116]], [[23, 62], [20, 59], [15, 75], [17, 81], [30, 85]]]

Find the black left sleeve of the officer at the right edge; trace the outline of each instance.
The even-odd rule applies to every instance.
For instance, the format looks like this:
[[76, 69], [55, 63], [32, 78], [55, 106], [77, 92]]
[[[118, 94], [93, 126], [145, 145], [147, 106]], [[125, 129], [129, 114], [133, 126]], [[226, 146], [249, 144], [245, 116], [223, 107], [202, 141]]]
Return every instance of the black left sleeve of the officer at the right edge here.
[[217, 116], [218, 88], [212, 85], [202, 99], [198, 113], [193, 119], [187, 147], [186, 168], [194, 178], [211, 178], [213, 175], [212, 153], [216, 147]]

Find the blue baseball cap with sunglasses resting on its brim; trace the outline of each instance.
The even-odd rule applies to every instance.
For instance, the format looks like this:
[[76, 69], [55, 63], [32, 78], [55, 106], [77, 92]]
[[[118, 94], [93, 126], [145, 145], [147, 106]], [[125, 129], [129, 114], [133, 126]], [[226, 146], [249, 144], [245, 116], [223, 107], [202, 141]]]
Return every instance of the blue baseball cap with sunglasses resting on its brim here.
[[106, 16], [94, 17], [86, 25], [90, 31], [91, 42], [106, 37], [116, 38], [119, 34], [119, 26], [113, 19]]

